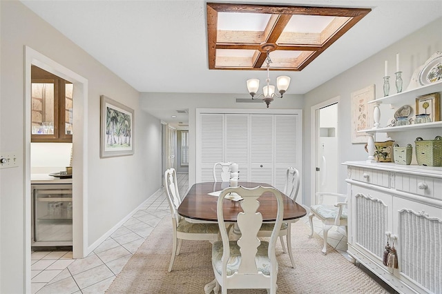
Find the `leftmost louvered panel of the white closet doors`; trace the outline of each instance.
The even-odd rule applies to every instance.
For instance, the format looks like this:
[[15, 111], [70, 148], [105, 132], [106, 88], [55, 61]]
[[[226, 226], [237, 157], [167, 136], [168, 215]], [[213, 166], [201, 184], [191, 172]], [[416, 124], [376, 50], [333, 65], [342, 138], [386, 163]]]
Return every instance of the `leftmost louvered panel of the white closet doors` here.
[[201, 157], [200, 170], [197, 170], [198, 182], [213, 182], [213, 164], [224, 161], [224, 115], [201, 114]]

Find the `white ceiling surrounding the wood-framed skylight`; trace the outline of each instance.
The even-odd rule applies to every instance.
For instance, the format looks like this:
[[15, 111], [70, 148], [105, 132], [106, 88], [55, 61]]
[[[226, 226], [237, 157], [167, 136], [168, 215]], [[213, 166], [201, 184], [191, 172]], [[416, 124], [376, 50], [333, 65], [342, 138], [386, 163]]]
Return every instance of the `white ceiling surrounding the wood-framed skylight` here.
[[[209, 70], [206, 1], [21, 1], [140, 92], [246, 93], [265, 72]], [[213, 1], [252, 3], [251, 1]], [[297, 6], [372, 8], [338, 41], [291, 77], [304, 94], [442, 16], [442, 1], [254, 0]], [[279, 75], [280, 73], [278, 73]], [[222, 82], [220, 82], [222, 81]], [[155, 113], [170, 121], [175, 110]]]

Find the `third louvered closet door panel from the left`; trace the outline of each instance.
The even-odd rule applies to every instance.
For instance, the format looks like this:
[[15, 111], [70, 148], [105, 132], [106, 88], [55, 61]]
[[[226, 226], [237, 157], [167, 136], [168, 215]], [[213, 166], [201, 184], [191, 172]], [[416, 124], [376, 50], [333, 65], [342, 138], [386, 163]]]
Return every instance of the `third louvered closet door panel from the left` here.
[[250, 117], [250, 182], [273, 185], [273, 115]]

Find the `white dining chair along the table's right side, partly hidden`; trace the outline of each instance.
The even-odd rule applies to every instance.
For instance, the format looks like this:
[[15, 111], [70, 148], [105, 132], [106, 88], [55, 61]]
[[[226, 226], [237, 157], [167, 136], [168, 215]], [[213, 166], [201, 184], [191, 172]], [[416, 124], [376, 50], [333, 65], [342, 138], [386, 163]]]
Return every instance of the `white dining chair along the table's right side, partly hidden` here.
[[[285, 187], [284, 194], [290, 197], [294, 202], [296, 202], [296, 198], [298, 197], [299, 190], [299, 170], [296, 168], [289, 167], [287, 168], [287, 173], [285, 177]], [[274, 224], [262, 224], [260, 231], [258, 233], [259, 237], [270, 237], [271, 232], [273, 231]], [[281, 230], [279, 232], [279, 239], [282, 246], [282, 251], [287, 253], [287, 249], [284, 244], [284, 236], [287, 239], [287, 249], [289, 251], [289, 257], [291, 266], [295, 267], [293, 253], [291, 251], [291, 223], [283, 222], [281, 226]]]

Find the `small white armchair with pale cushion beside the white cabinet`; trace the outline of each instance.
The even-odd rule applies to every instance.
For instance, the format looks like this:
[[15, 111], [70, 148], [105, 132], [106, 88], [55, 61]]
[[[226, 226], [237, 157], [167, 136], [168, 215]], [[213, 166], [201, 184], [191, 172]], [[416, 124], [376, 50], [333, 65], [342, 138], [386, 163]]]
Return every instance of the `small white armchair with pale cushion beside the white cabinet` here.
[[[337, 198], [336, 204], [325, 205], [323, 204], [324, 197]], [[309, 222], [311, 227], [311, 233], [309, 237], [313, 236], [313, 217], [317, 217], [323, 222], [323, 235], [324, 235], [324, 247], [323, 254], [327, 254], [327, 235], [332, 226], [345, 226], [347, 231], [347, 195], [337, 193], [316, 193], [317, 203], [310, 206]]]

